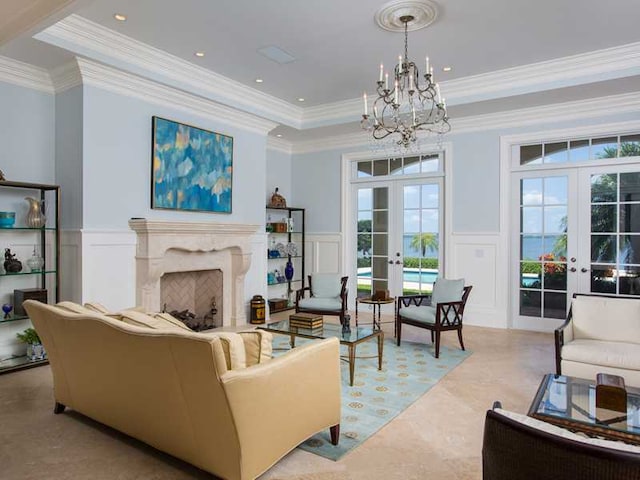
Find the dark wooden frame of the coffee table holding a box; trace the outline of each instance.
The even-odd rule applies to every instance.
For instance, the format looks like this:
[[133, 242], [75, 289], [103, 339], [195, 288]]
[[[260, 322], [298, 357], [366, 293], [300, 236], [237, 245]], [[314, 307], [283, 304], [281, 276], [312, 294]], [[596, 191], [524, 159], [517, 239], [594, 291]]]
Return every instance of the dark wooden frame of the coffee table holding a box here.
[[[545, 393], [547, 392], [547, 385], [549, 384], [550, 377], [557, 376], [553, 373], [547, 374], [542, 379], [540, 386], [538, 387], [538, 392], [529, 407], [528, 416], [536, 418], [538, 420], [542, 420], [543, 422], [551, 423], [553, 425], [557, 425], [558, 427], [563, 427], [573, 432], [581, 432], [589, 436], [596, 436], [606, 438], [608, 440], [619, 440], [625, 443], [630, 443], [633, 445], [640, 445], [640, 434], [636, 435], [633, 433], [626, 433], [621, 430], [615, 430], [613, 428], [607, 427], [606, 423], [614, 423], [618, 421], [623, 421], [627, 418], [625, 413], [620, 413], [620, 417], [616, 417], [614, 419], [609, 420], [608, 422], [602, 422], [602, 425], [589, 425], [585, 422], [581, 422], [579, 420], [573, 418], [559, 417], [554, 415], [546, 415], [538, 413], [538, 408], [544, 399]], [[573, 380], [573, 377], [567, 378], [567, 388], [570, 387], [569, 383]], [[588, 380], [577, 379], [582, 382], [586, 382]], [[595, 385], [595, 382], [593, 382]], [[629, 388], [627, 388], [629, 390]], [[636, 389], [633, 389], [636, 390]], [[637, 395], [638, 393], [634, 393]], [[580, 409], [577, 405], [573, 405], [574, 408]], [[584, 412], [585, 415], [589, 416], [588, 412]]]

